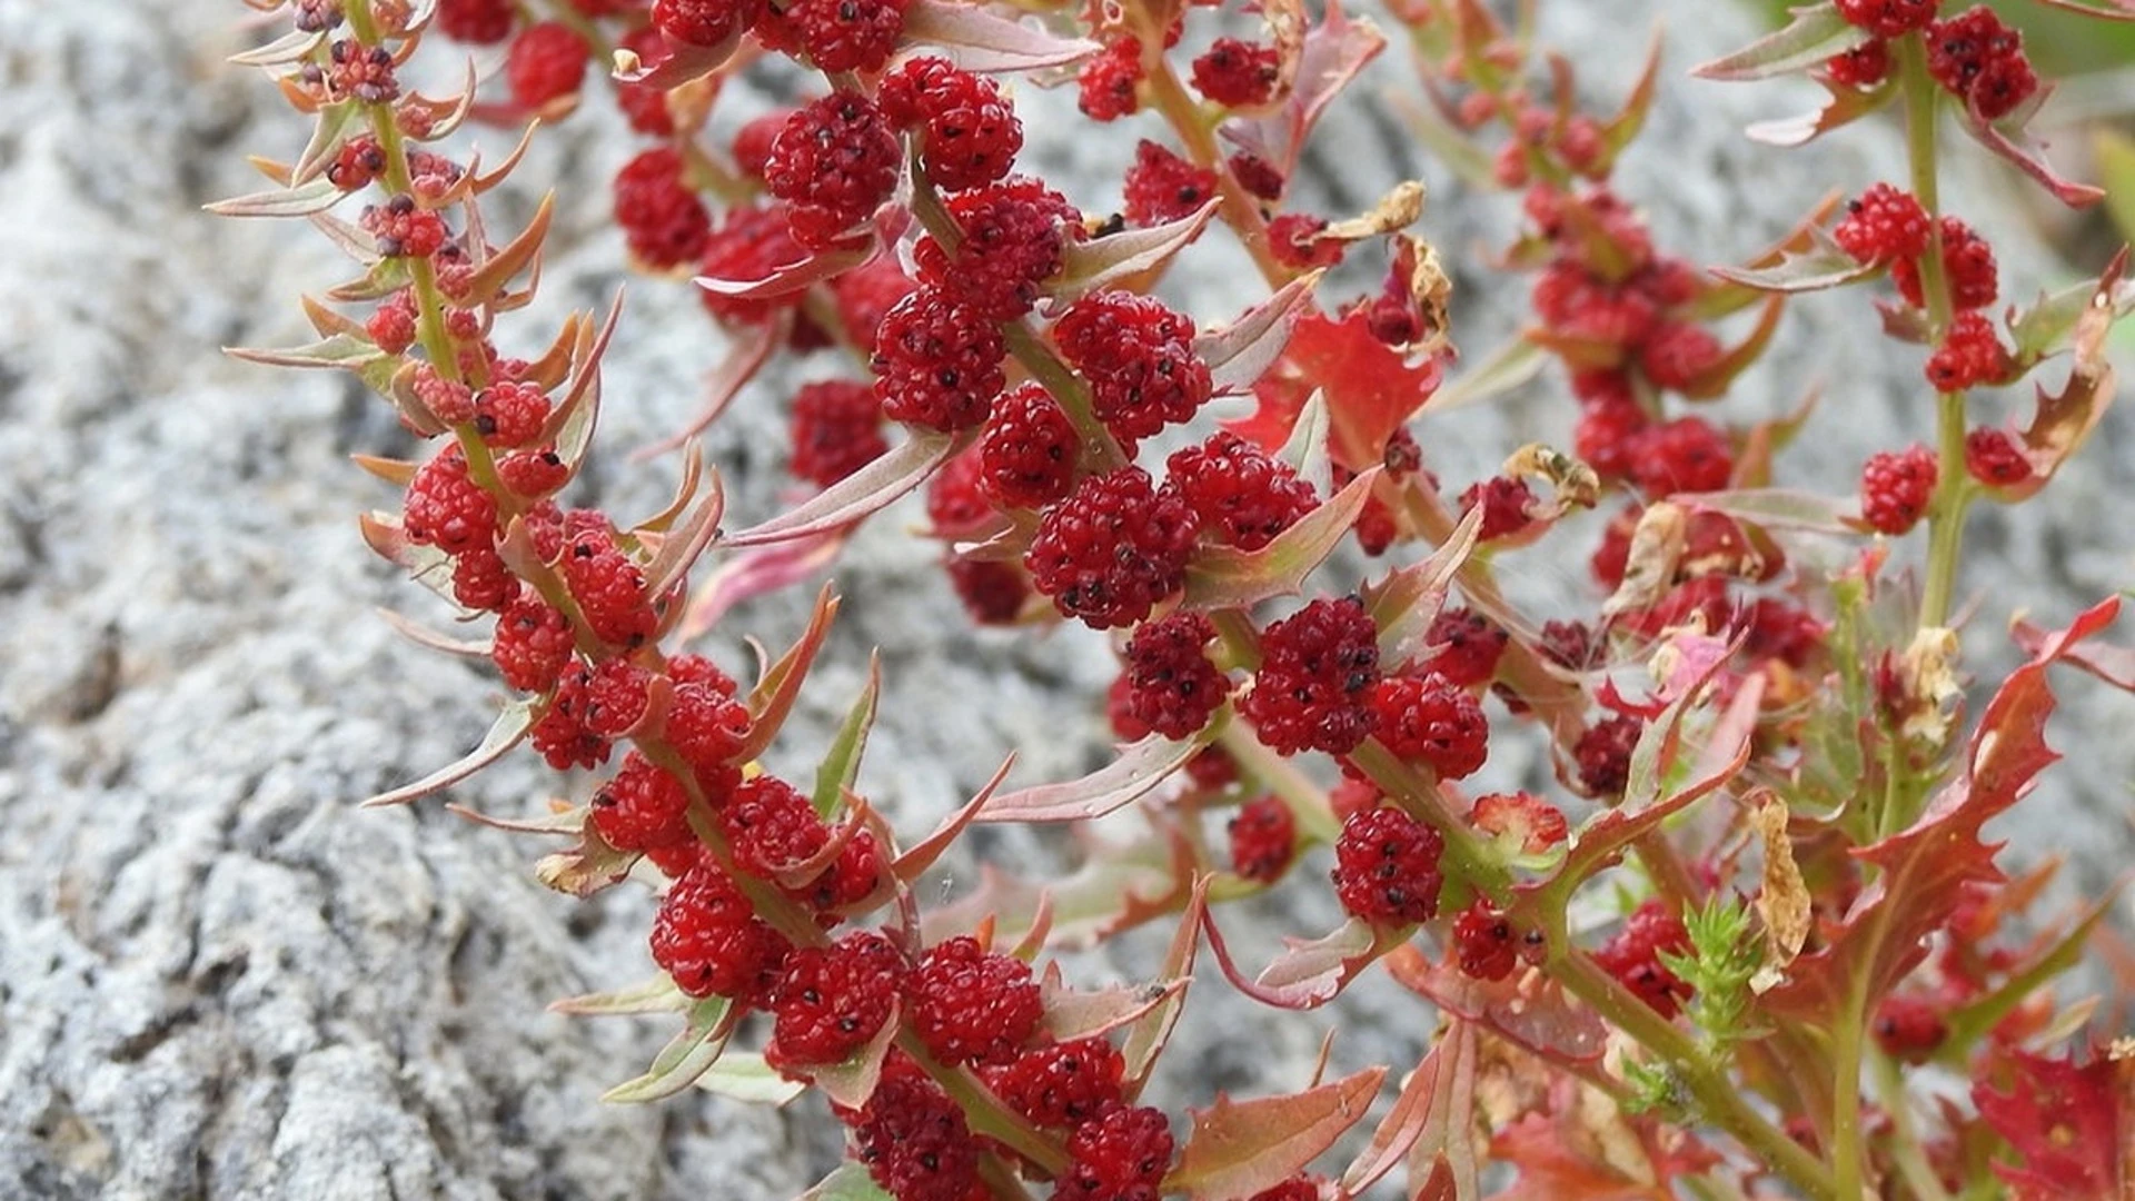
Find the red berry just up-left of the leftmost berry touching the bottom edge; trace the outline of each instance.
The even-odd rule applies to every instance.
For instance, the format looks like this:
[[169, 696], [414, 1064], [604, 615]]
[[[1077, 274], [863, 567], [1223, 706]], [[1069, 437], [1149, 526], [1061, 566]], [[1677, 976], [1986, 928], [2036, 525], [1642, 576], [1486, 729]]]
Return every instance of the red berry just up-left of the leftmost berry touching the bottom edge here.
[[890, 1019], [903, 979], [905, 957], [882, 934], [856, 930], [794, 951], [771, 998], [764, 1060], [784, 1073], [845, 1062]]

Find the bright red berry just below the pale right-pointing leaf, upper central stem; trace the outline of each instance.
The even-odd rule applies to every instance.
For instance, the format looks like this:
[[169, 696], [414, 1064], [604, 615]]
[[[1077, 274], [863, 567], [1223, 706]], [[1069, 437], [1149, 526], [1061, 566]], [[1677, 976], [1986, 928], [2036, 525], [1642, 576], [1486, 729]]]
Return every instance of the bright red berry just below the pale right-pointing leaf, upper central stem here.
[[1091, 293], [1061, 314], [1053, 340], [1089, 378], [1097, 421], [1127, 444], [1191, 421], [1215, 387], [1193, 323], [1153, 297]]

